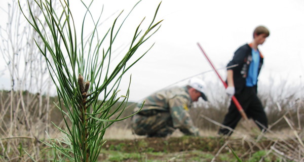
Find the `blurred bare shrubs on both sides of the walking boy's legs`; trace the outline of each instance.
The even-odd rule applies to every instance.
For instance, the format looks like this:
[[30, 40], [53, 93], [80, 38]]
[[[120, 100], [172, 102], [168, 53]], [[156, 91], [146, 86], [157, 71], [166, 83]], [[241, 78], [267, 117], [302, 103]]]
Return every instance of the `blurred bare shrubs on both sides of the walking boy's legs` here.
[[[208, 82], [206, 85], [208, 85], [206, 92], [208, 92], [209, 102], [203, 102], [197, 108], [191, 109], [191, 115], [198, 128], [217, 130], [218, 126], [202, 118], [201, 114], [221, 123], [230, 99], [225, 95], [224, 88], [217, 82]], [[289, 128], [286, 121], [282, 120], [284, 114], [290, 117], [296, 127], [303, 126], [303, 120], [298, 121], [298, 118], [303, 116], [303, 109], [299, 108], [301, 107], [301, 96], [299, 95], [301, 89], [298, 86], [287, 85], [286, 82], [282, 82], [280, 85], [261, 85], [259, 87], [258, 96], [267, 113], [269, 125], [276, 123], [272, 129]]]

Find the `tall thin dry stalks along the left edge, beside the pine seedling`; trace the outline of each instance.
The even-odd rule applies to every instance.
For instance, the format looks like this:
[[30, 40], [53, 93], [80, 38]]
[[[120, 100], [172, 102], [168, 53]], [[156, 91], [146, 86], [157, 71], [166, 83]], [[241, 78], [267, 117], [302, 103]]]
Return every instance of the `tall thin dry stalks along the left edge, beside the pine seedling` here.
[[[35, 16], [41, 14], [39, 10], [33, 11]], [[50, 131], [51, 79], [34, 44], [37, 34], [25, 24], [17, 1], [9, 2], [5, 17], [8, 23], [0, 29], [0, 52], [11, 86], [0, 92], [0, 160], [27, 161], [29, 156], [23, 146], [37, 159], [40, 153], [37, 141], [46, 137], [45, 131]]]

